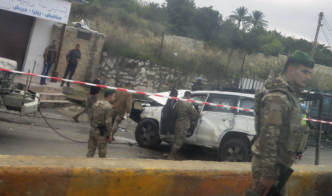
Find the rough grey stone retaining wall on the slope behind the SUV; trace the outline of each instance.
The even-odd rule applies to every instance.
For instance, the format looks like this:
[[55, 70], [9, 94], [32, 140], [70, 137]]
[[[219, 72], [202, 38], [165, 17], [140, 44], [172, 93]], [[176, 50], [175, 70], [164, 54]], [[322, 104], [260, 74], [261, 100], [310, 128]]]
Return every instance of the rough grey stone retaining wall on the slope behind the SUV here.
[[105, 85], [122, 87], [126, 82], [132, 83], [133, 90], [157, 93], [163, 92], [169, 79], [175, 80], [177, 89], [191, 90], [191, 83], [198, 76], [203, 77], [205, 86], [216, 85], [218, 81], [209, 80], [204, 75], [189, 75], [177, 68], [151, 64], [123, 57], [102, 55], [100, 72], [107, 75]]

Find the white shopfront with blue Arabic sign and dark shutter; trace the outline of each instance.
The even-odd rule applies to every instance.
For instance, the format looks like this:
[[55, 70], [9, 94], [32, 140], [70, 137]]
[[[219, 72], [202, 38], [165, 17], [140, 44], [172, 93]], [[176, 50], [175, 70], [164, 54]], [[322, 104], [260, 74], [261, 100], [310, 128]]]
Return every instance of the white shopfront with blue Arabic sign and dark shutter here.
[[[68, 22], [71, 3], [84, 0], [0, 0], [0, 57], [17, 62], [19, 71], [43, 70], [54, 23]], [[59, 41], [59, 40], [58, 40]]]

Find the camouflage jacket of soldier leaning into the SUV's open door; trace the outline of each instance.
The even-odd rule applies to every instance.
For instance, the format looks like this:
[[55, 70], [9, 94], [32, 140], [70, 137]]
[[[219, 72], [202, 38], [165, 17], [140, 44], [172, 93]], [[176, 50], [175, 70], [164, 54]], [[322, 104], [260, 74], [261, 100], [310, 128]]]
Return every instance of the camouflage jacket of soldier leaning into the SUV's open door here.
[[190, 119], [196, 118], [198, 115], [197, 110], [187, 101], [177, 102], [175, 108], [177, 113], [175, 127], [180, 125], [182, 128], [188, 129], [190, 127]]

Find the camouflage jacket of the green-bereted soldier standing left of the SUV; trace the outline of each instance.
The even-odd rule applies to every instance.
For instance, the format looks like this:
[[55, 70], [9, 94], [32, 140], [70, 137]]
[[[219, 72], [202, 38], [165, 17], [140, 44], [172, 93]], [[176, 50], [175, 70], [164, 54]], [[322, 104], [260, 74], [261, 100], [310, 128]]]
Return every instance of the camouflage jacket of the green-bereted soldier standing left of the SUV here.
[[[110, 104], [107, 100], [101, 100], [95, 103], [92, 106], [92, 115], [90, 118], [91, 121], [91, 130], [95, 134], [100, 134], [99, 129], [97, 128], [98, 124], [106, 123], [106, 131], [107, 134], [105, 135], [111, 135], [112, 132], [112, 127], [111, 127], [111, 114], [113, 112], [113, 106]], [[104, 122], [105, 119], [105, 122]]]

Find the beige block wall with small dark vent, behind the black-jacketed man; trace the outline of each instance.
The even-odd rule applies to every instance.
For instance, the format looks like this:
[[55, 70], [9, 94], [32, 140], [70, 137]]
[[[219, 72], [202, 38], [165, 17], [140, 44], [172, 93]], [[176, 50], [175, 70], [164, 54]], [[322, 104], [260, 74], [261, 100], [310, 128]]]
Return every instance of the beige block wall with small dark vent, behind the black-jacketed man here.
[[[53, 26], [52, 37], [60, 41], [62, 25]], [[77, 38], [78, 32], [91, 34], [90, 40]], [[69, 50], [74, 49], [76, 44], [81, 45], [82, 59], [79, 61], [72, 80], [91, 82], [98, 76], [98, 65], [101, 61], [101, 54], [104, 47], [106, 35], [102, 33], [86, 31], [75, 27], [66, 27], [66, 33], [63, 38], [59, 63], [57, 65], [58, 77], [63, 76], [66, 69], [66, 55]], [[54, 66], [53, 66], [54, 68]], [[68, 79], [68, 77], [67, 77]]]

